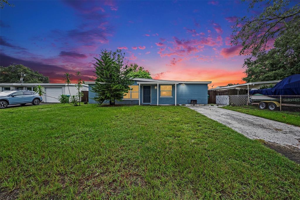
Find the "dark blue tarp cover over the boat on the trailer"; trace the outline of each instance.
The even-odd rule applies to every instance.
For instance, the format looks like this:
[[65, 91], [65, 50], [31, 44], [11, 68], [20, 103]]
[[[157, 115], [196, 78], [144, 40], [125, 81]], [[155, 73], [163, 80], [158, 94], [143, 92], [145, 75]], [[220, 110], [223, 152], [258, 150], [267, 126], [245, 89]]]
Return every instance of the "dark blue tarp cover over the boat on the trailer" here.
[[249, 94], [272, 95], [300, 95], [300, 74], [286, 77], [273, 88], [251, 90]]

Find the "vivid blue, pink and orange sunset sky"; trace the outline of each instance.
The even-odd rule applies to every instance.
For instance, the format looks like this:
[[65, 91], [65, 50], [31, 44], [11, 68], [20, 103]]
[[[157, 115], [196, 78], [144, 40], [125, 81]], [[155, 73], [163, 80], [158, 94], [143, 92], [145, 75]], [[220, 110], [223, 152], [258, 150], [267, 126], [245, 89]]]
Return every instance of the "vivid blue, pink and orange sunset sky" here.
[[[122, 49], [155, 79], [243, 83], [231, 46], [241, 1], [10, 1], [1, 10], [1, 66], [24, 64], [62, 82], [93, 78], [101, 49]], [[253, 13], [250, 13], [253, 14]]]

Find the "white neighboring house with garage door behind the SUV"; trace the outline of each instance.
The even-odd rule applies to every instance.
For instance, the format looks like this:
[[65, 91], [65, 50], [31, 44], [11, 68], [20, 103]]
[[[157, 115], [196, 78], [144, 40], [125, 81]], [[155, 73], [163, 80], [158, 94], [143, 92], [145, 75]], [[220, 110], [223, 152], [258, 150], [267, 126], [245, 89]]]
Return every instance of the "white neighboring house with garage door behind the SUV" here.
[[[70, 84], [69, 89], [65, 83], [0, 83], [0, 91], [7, 90], [33, 90], [37, 85], [41, 85], [45, 88], [46, 96], [43, 97], [43, 102], [47, 103], [59, 103], [57, 98], [61, 94], [75, 95], [77, 94], [77, 89], [75, 84]], [[82, 85], [82, 91], [88, 91], [88, 85]], [[48, 96], [48, 97], [47, 97]], [[55, 98], [51, 98], [55, 97]]]

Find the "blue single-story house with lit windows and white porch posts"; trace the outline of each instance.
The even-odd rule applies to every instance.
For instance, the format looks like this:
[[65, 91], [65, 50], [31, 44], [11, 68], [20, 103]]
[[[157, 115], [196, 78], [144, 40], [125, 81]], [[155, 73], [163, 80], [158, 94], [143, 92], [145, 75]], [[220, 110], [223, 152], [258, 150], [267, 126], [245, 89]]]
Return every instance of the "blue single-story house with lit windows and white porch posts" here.
[[[125, 93], [123, 101], [116, 104], [130, 105], [178, 105], [190, 104], [197, 100], [197, 104], [207, 104], [207, 85], [211, 81], [170, 81], [157, 79], [134, 78], [134, 83], [129, 85], [132, 90]], [[87, 81], [89, 103], [97, 103], [93, 99], [92, 91], [94, 81]], [[109, 101], [104, 102], [109, 103]]]

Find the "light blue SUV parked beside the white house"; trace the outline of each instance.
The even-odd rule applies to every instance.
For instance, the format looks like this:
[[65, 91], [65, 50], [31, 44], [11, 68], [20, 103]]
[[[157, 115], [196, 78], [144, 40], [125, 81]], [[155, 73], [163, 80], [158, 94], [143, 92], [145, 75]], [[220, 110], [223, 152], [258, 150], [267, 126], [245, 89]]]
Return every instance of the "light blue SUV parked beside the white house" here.
[[42, 101], [42, 97], [30, 90], [10, 90], [0, 92], [0, 109], [6, 108], [8, 105], [32, 103], [38, 105]]

